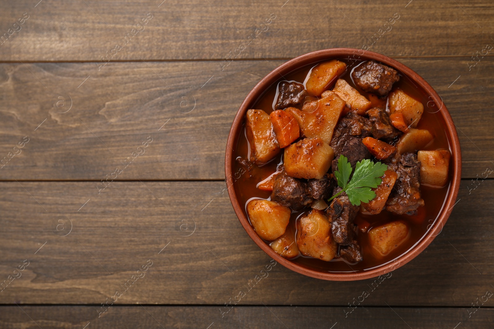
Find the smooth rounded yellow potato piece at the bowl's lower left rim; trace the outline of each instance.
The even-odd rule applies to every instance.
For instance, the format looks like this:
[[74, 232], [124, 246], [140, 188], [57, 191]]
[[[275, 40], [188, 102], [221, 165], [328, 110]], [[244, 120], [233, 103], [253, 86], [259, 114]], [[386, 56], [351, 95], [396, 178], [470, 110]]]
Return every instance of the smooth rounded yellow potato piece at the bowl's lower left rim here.
[[274, 201], [252, 200], [247, 204], [250, 223], [264, 240], [274, 240], [285, 233], [290, 214], [290, 208]]

